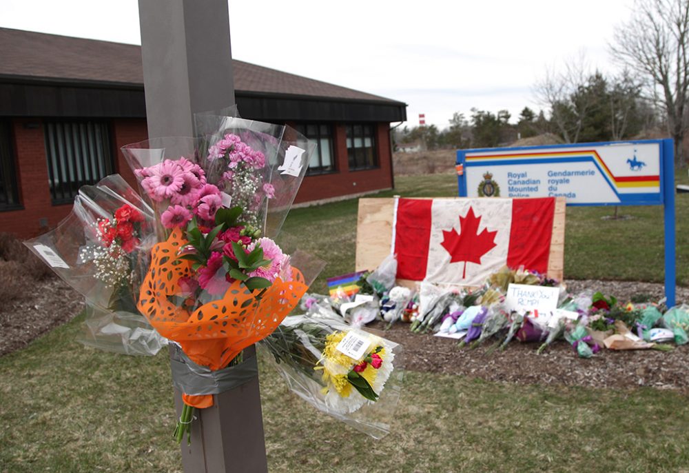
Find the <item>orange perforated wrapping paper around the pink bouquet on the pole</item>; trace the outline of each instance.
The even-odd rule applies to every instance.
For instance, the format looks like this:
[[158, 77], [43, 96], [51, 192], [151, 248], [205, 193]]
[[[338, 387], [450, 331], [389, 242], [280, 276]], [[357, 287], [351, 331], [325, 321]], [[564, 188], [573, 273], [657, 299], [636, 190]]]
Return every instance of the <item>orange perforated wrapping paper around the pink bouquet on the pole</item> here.
[[[192, 275], [192, 262], [177, 258], [179, 248], [186, 244], [181, 230], [175, 229], [167, 241], [154, 245], [138, 310], [159, 334], [179, 343], [194, 363], [220, 370], [249, 345], [274, 332], [307, 291], [307, 285], [301, 272], [292, 268], [292, 281], [278, 278], [256, 299], [260, 290], [251, 292], [234, 281], [222, 299], [190, 313], [169, 301], [169, 296], [183, 292], [179, 279]], [[184, 394], [183, 399], [194, 407], [213, 405], [212, 395]]]

